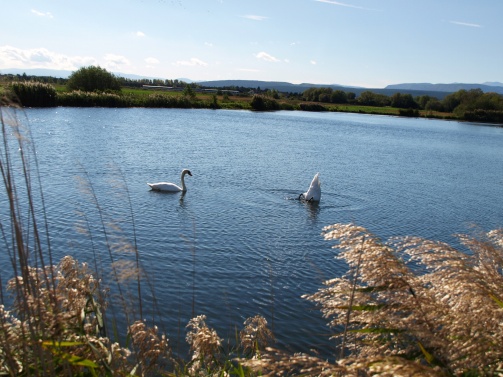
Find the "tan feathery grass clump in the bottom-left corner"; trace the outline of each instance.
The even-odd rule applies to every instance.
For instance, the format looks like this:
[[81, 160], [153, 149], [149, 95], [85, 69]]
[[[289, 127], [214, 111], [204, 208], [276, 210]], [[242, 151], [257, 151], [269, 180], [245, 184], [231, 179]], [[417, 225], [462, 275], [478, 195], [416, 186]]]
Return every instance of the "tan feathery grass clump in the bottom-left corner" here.
[[[58, 266], [28, 267], [28, 272], [8, 283], [14, 310], [2, 308], [0, 344], [7, 352], [0, 353], [0, 372], [46, 375], [98, 369], [110, 352], [108, 339], [100, 336], [102, 308], [94, 299], [99, 284], [87, 266], [67, 256]], [[54, 291], [48, 275], [57, 282]], [[25, 285], [30, 291], [19, 289]]]

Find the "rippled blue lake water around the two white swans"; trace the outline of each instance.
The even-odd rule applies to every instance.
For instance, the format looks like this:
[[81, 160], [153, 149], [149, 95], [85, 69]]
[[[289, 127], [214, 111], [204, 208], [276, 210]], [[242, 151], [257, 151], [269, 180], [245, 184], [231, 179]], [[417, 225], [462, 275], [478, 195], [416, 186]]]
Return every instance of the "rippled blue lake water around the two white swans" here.
[[[299, 111], [50, 108], [20, 118], [37, 151], [55, 260], [71, 254], [106, 269], [102, 220], [119, 226], [109, 242], [136, 240], [155, 292], [157, 306], [144, 283], [143, 316], [182, 354], [194, 314], [230, 339], [261, 314], [279, 346], [330, 354], [327, 320], [301, 298], [346, 272], [320, 236], [326, 225], [447, 242], [473, 225], [503, 225], [499, 127]], [[184, 196], [146, 185], [178, 183], [183, 168], [193, 174]], [[296, 200], [317, 172], [321, 202]]]

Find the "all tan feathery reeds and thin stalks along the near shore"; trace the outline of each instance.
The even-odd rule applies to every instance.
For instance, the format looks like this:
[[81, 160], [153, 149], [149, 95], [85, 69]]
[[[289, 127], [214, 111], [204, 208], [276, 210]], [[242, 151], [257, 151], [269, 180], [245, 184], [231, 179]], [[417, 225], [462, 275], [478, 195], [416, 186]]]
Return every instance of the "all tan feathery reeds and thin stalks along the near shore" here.
[[[180, 358], [143, 319], [148, 274], [134, 241], [113, 236], [115, 225], [102, 220], [105, 250], [93, 250], [93, 267], [71, 249], [53, 261], [29, 128], [15, 107], [0, 110], [1, 205], [8, 213], [0, 218], [1, 258], [12, 271], [8, 282], [0, 280], [0, 374], [503, 375], [503, 230], [460, 235], [458, 250], [416, 237], [383, 242], [354, 224], [328, 226], [323, 236], [348, 272], [304, 297], [335, 333], [331, 360], [275, 348], [260, 315], [244, 322], [232, 345], [211, 318], [194, 317], [186, 326], [190, 354]], [[92, 193], [90, 185], [99, 208]], [[125, 329], [117, 328], [114, 308], [125, 314]]]

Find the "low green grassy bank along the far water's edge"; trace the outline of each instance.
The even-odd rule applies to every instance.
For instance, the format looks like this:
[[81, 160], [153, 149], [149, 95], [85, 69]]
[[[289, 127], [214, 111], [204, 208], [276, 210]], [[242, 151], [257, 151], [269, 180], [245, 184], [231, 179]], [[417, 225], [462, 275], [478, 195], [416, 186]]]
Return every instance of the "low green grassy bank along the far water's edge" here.
[[[27, 107], [37, 106], [68, 106], [68, 107], [145, 107], [145, 108], [204, 108], [204, 109], [236, 109], [236, 110], [292, 110], [292, 111], [327, 111], [359, 114], [378, 114], [391, 116], [424, 117], [435, 119], [460, 119], [453, 113], [431, 110], [407, 110], [396, 107], [364, 106], [358, 104], [336, 104], [303, 101], [298, 98], [268, 95], [240, 94], [228, 95], [193, 91], [187, 94], [183, 90], [152, 90], [124, 87], [120, 92], [84, 92], [69, 91], [64, 85], [23, 83], [28, 89], [18, 89], [13, 96], [19, 104]], [[41, 97], [47, 97], [52, 89], [53, 99], [43, 102]], [[36, 91], [44, 90], [43, 94]], [[4, 85], [4, 93], [10, 91]], [[257, 105], [256, 98], [262, 98]]]

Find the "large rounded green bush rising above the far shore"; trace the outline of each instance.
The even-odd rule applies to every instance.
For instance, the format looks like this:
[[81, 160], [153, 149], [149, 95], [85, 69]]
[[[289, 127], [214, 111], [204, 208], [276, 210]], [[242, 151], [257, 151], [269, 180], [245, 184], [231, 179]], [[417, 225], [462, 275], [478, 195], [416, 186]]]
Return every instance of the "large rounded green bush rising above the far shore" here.
[[70, 90], [94, 91], [120, 91], [120, 82], [106, 69], [96, 66], [82, 67], [73, 72], [66, 84]]

